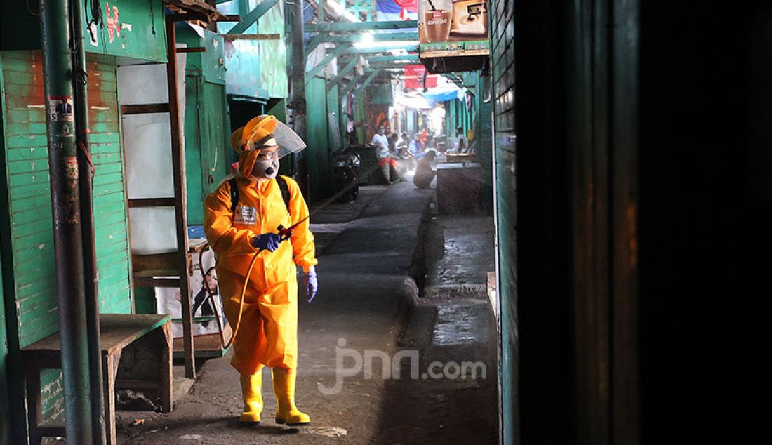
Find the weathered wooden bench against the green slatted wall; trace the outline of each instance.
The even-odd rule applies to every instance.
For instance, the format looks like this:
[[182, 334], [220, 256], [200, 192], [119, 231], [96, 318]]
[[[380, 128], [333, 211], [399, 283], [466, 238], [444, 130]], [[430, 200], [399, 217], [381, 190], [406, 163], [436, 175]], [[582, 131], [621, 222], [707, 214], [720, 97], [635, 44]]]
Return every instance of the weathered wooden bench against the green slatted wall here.
[[[107, 443], [116, 443], [115, 390], [137, 389], [160, 396], [161, 408], [171, 406], [171, 317], [164, 314], [100, 314], [104, 420]], [[59, 334], [22, 348], [29, 443], [43, 437], [65, 437], [61, 423], [41, 422], [40, 371], [61, 369]]]

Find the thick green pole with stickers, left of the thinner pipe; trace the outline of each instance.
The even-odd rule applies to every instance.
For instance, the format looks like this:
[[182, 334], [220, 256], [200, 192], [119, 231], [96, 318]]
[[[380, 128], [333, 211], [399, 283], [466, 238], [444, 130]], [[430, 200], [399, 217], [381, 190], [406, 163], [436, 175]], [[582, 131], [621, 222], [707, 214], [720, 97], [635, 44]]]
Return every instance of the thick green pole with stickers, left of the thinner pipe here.
[[73, 113], [73, 66], [69, 55], [69, 10], [67, 0], [41, 0], [41, 7], [65, 431], [68, 443], [90, 443], [93, 428], [88, 338], [84, 329], [86, 301]]

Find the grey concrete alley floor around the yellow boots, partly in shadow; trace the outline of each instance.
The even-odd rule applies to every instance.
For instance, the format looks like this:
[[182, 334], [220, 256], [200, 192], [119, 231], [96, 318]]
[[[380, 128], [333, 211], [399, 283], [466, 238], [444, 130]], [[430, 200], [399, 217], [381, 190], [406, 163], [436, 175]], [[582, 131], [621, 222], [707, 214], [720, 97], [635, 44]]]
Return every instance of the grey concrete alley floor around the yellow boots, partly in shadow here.
[[[269, 372], [263, 379], [262, 423], [240, 426], [239, 376], [229, 365], [229, 352], [200, 364], [195, 385], [175, 396], [172, 413], [119, 411], [118, 442], [496, 443], [492, 311], [479, 296], [419, 297], [414, 280], [442, 284], [431, 278], [444, 270], [447, 256], [436, 245], [447, 240], [432, 236], [434, 193], [415, 189], [409, 180], [367, 186], [354, 204], [335, 203], [314, 214], [320, 291], [312, 304], [300, 299], [296, 396], [311, 416], [310, 426], [274, 423]], [[443, 226], [458, 226], [442, 219]], [[487, 267], [477, 269], [484, 273]], [[405, 356], [394, 359], [400, 379], [391, 364], [381, 365], [398, 353]], [[428, 369], [432, 362], [441, 365]], [[460, 369], [462, 362], [477, 365]], [[442, 373], [442, 366], [444, 375], [428, 376]], [[137, 419], [144, 423], [135, 426]]]

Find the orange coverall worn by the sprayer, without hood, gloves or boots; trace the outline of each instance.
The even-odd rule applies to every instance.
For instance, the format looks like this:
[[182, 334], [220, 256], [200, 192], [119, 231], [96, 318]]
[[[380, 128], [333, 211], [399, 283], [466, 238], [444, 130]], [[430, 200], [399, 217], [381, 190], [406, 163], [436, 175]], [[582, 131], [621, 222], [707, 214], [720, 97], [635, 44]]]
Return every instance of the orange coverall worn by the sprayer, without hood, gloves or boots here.
[[[239, 205], [231, 212], [229, 182], [224, 181], [206, 197], [204, 227], [217, 260], [217, 275], [225, 317], [235, 326], [245, 275], [257, 252], [250, 240], [261, 233], [276, 233], [308, 216], [300, 187], [283, 177], [289, 188], [289, 212], [275, 180], [250, 182], [237, 178]], [[235, 215], [234, 215], [235, 214]], [[235, 216], [235, 217], [234, 217]], [[247, 280], [242, 322], [233, 342], [231, 365], [240, 374], [252, 375], [262, 368], [297, 368], [297, 263], [307, 271], [316, 265], [313, 234], [306, 219], [296, 227], [289, 242], [274, 252], [258, 253]]]

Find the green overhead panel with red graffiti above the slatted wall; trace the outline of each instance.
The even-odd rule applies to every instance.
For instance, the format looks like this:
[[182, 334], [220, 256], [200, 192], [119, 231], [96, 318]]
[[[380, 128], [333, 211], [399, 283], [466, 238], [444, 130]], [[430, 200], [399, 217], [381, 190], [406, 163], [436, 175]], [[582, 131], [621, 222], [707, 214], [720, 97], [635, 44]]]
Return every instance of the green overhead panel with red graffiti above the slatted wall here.
[[[166, 62], [163, 0], [101, 2], [103, 25], [86, 25], [86, 53]], [[40, 49], [40, 2], [0, 2], [0, 50]], [[83, 8], [87, 24], [88, 8]]]

